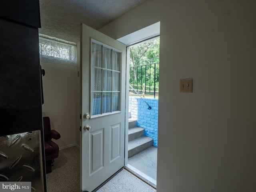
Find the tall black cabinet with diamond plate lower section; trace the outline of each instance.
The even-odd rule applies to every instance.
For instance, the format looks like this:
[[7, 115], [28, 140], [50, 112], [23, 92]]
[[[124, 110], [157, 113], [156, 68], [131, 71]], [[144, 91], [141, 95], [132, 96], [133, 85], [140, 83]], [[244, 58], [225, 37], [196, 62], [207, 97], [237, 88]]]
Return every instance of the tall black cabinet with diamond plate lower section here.
[[46, 191], [38, 0], [0, 2], [0, 181]]

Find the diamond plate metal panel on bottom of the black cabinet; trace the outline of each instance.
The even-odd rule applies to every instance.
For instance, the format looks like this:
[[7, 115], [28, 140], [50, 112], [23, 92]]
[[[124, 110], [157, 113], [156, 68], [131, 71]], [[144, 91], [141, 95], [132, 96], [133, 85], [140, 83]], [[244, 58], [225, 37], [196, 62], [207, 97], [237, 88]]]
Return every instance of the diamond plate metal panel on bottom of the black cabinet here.
[[31, 191], [43, 192], [41, 131], [0, 136], [0, 181], [31, 181]]

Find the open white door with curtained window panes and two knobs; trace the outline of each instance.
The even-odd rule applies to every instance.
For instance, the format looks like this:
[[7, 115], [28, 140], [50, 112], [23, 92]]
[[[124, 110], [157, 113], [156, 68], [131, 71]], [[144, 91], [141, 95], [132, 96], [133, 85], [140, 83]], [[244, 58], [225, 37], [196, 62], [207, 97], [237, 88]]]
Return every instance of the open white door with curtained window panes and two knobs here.
[[81, 24], [81, 190], [124, 166], [126, 46]]

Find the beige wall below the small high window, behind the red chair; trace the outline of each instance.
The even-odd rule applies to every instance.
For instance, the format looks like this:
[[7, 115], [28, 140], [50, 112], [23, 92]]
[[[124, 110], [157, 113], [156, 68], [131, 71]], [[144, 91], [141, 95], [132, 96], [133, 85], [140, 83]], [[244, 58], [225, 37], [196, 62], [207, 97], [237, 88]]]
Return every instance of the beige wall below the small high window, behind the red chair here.
[[[61, 135], [54, 140], [59, 147], [76, 143], [77, 68], [40, 63], [45, 70], [43, 79], [43, 116], [49, 116], [51, 128]], [[78, 78], [79, 79], [79, 78]]]

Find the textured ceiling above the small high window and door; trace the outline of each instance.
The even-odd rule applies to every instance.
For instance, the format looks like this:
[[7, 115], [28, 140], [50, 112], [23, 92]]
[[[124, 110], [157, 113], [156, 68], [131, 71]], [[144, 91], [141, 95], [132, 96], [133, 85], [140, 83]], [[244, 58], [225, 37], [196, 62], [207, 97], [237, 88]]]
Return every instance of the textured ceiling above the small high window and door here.
[[80, 24], [96, 30], [146, 0], [40, 0], [40, 34], [78, 42]]

